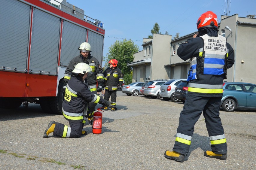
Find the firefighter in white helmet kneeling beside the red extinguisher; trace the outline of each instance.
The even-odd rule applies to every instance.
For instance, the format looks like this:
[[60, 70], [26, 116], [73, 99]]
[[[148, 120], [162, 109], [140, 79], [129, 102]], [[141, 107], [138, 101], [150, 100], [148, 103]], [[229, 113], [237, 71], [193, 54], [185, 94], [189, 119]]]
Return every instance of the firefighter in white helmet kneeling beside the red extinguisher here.
[[85, 63], [81, 62], [75, 66], [72, 71], [72, 77], [67, 84], [62, 103], [62, 113], [64, 118], [69, 121], [70, 127], [62, 123], [50, 121], [44, 132], [44, 138], [47, 138], [51, 132], [53, 132], [54, 136], [62, 138], [79, 138], [81, 135], [86, 135], [87, 132], [82, 129], [86, 119], [88, 102], [114, 108], [111, 105], [112, 102], [106, 101], [92, 93], [88, 85], [84, 83], [84, 80], [91, 72], [91, 67]]

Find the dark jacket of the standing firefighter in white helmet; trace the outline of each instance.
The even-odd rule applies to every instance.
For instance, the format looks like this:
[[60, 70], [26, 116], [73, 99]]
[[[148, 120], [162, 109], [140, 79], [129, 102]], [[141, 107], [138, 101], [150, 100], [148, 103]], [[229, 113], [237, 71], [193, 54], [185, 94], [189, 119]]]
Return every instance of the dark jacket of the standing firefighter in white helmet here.
[[92, 68], [92, 74], [87, 75], [87, 84], [92, 91], [96, 91], [97, 81], [99, 84], [103, 85], [103, 82], [104, 82], [103, 70], [101, 65], [99, 64], [99, 61], [95, 57], [91, 56], [90, 54], [88, 55], [87, 59], [85, 59], [82, 55], [79, 55], [73, 58], [69, 62], [69, 65], [65, 71], [64, 78], [67, 78], [67, 79], [71, 78], [72, 71], [74, 70], [75, 65], [77, 65], [79, 62], [84, 62], [90, 65], [90, 67]]

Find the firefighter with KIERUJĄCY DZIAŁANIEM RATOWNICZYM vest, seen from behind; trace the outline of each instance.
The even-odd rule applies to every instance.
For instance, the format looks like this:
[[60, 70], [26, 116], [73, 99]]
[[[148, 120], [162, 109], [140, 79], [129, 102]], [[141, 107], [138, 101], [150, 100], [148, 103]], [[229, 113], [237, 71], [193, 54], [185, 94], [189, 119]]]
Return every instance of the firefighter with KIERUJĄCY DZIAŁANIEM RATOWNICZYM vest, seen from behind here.
[[218, 35], [218, 19], [212, 11], [199, 17], [197, 29], [193, 38], [177, 50], [181, 59], [190, 59], [188, 90], [174, 147], [172, 151], [166, 150], [164, 155], [178, 162], [183, 162], [189, 152], [194, 125], [202, 112], [212, 148], [212, 151], [205, 151], [204, 156], [227, 159], [227, 143], [219, 111], [223, 80], [227, 78], [227, 68], [234, 64], [234, 51], [227, 39]]

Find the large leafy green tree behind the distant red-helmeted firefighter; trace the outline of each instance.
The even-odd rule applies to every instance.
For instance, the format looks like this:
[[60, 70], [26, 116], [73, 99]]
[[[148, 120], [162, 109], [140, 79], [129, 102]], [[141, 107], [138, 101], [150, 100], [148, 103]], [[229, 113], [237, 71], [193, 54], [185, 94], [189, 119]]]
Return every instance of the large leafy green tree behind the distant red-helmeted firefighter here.
[[[108, 65], [109, 60], [117, 59], [117, 67], [122, 71], [124, 76], [128, 76], [132, 72], [132, 67], [127, 66], [127, 63], [133, 62], [133, 54], [137, 53], [138, 51], [139, 47], [134, 44], [132, 40], [124, 39], [123, 41], [116, 41], [109, 47], [108, 56], [106, 56], [105, 61]], [[129, 80], [125, 80], [125, 83], [131, 81], [132, 77], [130, 77]]]

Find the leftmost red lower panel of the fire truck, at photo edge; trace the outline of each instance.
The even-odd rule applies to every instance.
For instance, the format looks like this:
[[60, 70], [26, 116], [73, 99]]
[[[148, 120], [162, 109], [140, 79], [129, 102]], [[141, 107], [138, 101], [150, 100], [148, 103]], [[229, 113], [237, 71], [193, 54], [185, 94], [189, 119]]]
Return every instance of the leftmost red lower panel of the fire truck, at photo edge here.
[[26, 75], [0, 71], [0, 97], [25, 97]]

